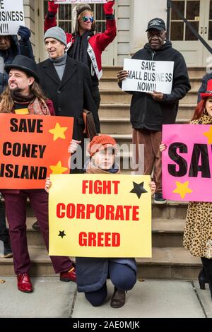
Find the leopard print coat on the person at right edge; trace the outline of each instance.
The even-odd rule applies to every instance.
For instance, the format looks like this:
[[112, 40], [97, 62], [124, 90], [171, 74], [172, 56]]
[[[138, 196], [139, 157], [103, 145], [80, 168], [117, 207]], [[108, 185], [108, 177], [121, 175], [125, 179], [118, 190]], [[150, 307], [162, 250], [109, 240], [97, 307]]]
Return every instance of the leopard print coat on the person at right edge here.
[[[207, 114], [191, 124], [212, 124]], [[183, 245], [193, 256], [212, 259], [212, 203], [189, 202]]]

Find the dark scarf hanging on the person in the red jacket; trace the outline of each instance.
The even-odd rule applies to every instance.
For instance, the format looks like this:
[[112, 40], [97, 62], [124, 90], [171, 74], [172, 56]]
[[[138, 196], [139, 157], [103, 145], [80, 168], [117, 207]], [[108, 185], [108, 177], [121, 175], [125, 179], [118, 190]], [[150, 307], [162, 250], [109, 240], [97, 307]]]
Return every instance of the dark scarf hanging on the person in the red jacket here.
[[83, 35], [76, 32], [75, 40], [71, 49], [69, 49], [69, 57], [74, 60], [88, 64], [88, 39], [93, 35], [93, 32], [87, 31]]

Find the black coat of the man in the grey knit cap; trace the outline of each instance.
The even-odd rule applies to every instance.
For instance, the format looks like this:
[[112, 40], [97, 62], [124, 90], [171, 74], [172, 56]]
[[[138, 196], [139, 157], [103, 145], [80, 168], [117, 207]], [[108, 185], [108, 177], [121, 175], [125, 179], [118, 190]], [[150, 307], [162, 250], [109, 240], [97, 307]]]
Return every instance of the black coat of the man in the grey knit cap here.
[[95, 126], [100, 132], [98, 111], [91, 95], [92, 86], [88, 66], [67, 57], [62, 81], [49, 59], [37, 64], [40, 85], [54, 103], [56, 115], [73, 117], [73, 138], [83, 140], [83, 108], [93, 113]]

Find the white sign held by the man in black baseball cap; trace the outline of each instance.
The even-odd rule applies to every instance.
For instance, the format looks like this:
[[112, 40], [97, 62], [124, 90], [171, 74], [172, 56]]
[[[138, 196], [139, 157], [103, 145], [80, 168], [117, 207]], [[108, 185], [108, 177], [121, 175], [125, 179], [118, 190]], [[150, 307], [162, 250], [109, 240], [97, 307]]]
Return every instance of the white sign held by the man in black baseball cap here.
[[122, 83], [122, 90], [169, 95], [172, 92], [174, 61], [146, 61], [124, 59], [124, 70], [129, 77]]

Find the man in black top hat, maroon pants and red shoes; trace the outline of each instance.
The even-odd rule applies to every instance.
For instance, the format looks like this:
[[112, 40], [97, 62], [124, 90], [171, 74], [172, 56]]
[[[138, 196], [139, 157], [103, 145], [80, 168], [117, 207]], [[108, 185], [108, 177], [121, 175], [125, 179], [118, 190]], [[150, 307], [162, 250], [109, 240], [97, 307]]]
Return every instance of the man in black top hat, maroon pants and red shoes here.
[[[35, 61], [17, 56], [12, 64], [5, 66], [8, 73], [8, 88], [1, 94], [0, 113], [54, 114], [51, 100], [42, 93]], [[26, 201], [30, 203], [40, 225], [46, 247], [49, 247], [48, 195], [44, 189], [2, 190], [6, 204], [14, 269], [18, 279], [18, 290], [33, 292], [30, 282], [30, 256], [26, 238]], [[52, 256], [54, 271], [60, 273], [61, 281], [76, 281], [75, 268], [68, 257]]]

